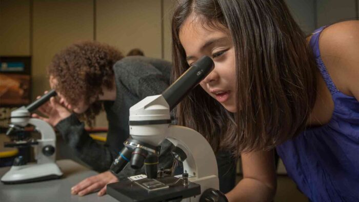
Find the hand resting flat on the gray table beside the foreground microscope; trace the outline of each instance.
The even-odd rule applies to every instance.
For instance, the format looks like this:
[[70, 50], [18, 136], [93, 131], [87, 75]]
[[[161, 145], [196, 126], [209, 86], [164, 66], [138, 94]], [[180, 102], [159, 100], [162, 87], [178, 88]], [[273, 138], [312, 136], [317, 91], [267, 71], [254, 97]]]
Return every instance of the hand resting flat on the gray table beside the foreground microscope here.
[[71, 188], [71, 194], [83, 196], [101, 189], [97, 195], [103, 196], [106, 194], [106, 185], [116, 183], [117, 181], [118, 178], [115, 175], [113, 175], [110, 171], [106, 171], [82, 180], [80, 183]]

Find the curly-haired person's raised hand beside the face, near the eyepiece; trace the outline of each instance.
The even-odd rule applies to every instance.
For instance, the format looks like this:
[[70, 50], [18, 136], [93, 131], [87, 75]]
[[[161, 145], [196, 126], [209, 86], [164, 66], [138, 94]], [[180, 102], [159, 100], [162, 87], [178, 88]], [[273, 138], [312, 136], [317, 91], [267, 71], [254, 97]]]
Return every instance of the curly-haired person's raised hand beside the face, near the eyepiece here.
[[[47, 91], [45, 91], [45, 93], [47, 93]], [[40, 98], [40, 96], [37, 96], [37, 99], [38, 98]], [[62, 106], [55, 99], [55, 97], [51, 97], [49, 102], [46, 102], [41, 107], [37, 108], [37, 110], [43, 115], [47, 116], [47, 118], [39, 116], [38, 114], [32, 114], [32, 117], [45, 120], [45, 122], [49, 123], [51, 126], [56, 126], [62, 119], [65, 119], [71, 115], [71, 112]]]

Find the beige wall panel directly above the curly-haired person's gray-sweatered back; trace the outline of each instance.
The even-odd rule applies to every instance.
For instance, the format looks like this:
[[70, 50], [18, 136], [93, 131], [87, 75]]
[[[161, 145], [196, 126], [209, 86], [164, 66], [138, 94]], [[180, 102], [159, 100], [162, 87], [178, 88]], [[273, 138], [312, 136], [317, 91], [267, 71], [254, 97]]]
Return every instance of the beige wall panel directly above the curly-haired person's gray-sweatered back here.
[[96, 1], [96, 41], [161, 58], [161, 0]]

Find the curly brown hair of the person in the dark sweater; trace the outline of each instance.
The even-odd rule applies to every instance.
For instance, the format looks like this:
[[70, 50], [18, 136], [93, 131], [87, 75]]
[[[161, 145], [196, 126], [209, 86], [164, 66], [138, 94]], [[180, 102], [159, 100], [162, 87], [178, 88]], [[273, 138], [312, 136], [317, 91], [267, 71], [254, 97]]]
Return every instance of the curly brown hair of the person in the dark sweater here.
[[113, 88], [114, 72], [112, 66], [123, 54], [107, 44], [85, 41], [73, 44], [57, 53], [48, 66], [48, 75], [57, 80], [56, 91], [66, 98], [70, 105], [76, 106], [79, 95], [85, 104], [95, 99], [79, 118], [93, 126], [95, 116], [103, 110], [103, 87]]

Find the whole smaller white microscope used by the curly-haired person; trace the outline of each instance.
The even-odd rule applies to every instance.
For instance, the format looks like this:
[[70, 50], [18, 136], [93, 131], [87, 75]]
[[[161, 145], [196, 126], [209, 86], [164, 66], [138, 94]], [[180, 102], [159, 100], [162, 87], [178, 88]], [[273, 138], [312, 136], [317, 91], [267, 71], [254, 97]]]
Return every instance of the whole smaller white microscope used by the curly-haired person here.
[[[52, 127], [44, 120], [32, 118], [31, 112], [56, 96], [54, 90], [49, 91], [29, 106], [11, 112], [11, 120], [6, 135], [11, 135], [12, 142], [4, 143], [5, 147], [34, 147], [36, 164], [26, 164], [23, 156], [14, 160], [13, 166], [1, 178], [4, 184], [30, 183], [60, 178], [63, 173], [55, 163], [56, 135]], [[41, 139], [24, 138], [21, 133], [24, 127], [31, 124], [41, 133]]]

